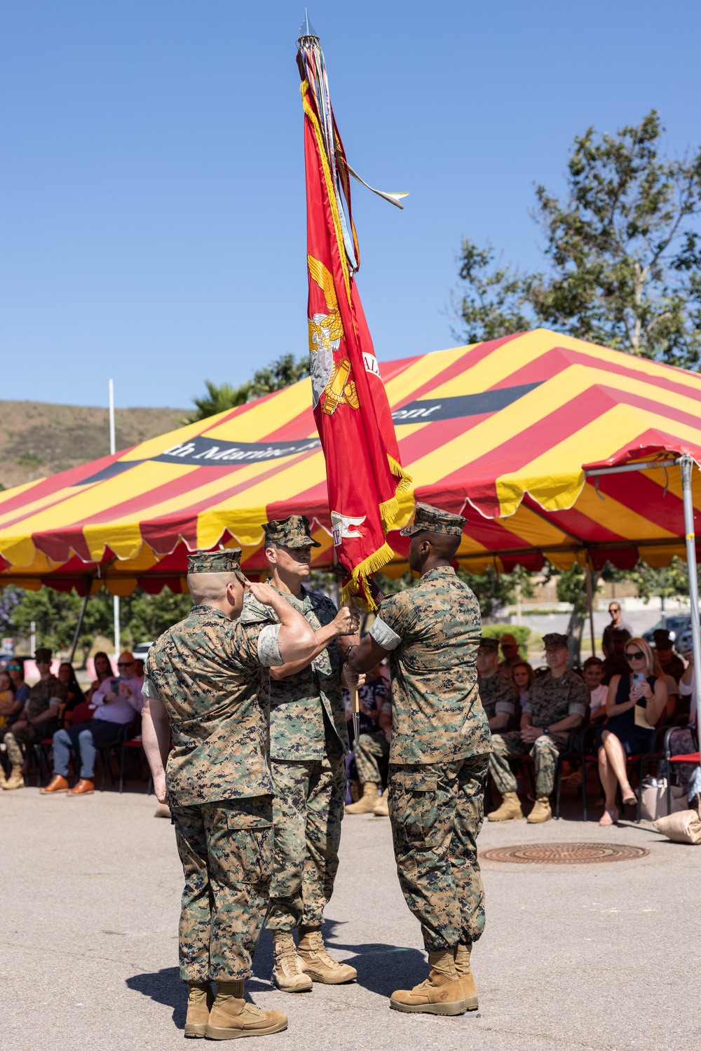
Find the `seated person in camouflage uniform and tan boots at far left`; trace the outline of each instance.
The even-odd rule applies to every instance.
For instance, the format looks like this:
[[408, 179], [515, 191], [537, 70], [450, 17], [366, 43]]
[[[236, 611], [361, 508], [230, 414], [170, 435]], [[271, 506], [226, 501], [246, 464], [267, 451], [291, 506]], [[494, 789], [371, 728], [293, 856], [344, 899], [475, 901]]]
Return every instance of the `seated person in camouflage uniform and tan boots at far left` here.
[[[58, 729], [59, 708], [67, 699], [65, 685], [51, 675], [51, 651], [40, 646], [35, 652], [35, 660], [39, 671], [39, 682], [29, 688], [22, 713], [16, 722], [4, 730], [5, 748], [9, 763], [9, 777], [0, 781], [3, 788], [12, 790], [24, 787], [22, 775], [21, 745], [32, 747], [42, 738], [51, 737]], [[0, 730], [0, 734], [3, 731]], [[0, 767], [0, 772], [2, 767]], [[4, 782], [4, 784], [2, 783]]]

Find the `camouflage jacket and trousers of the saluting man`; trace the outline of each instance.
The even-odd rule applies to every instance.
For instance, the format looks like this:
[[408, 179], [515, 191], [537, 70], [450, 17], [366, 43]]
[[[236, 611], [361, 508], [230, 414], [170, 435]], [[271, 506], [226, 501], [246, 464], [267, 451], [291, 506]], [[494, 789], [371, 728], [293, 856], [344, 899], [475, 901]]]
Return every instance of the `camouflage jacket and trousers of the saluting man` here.
[[195, 605], [146, 661], [144, 697], [161, 698], [172, 733], [166, 787], [185, 873], [180, 973], [188, 983], [248, 977], [268, 904], [273, 786], [265, 695], [267, 668], [282, 661], [280, 625], [261, 610], [243, 624]]

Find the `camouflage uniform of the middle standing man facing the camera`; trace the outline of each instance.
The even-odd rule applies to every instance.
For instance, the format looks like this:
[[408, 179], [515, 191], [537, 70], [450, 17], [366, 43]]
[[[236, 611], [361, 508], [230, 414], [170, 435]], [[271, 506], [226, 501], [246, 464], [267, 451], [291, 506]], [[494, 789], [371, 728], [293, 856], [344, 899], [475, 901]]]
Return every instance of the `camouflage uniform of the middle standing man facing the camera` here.
[[[315, 632], [330, 624], [337, 613], [331, 599], [304, 585], [302, 591], [302, 598], [281, 594]], [[247, 597], [242, 619], [257, 611], [255, 599]], [[275, 867], [267, 926], [272, 930], [322, 926], [338, 869], [347, 751], [341, 655], [333, 641], [301, 672], [270, 681]]]

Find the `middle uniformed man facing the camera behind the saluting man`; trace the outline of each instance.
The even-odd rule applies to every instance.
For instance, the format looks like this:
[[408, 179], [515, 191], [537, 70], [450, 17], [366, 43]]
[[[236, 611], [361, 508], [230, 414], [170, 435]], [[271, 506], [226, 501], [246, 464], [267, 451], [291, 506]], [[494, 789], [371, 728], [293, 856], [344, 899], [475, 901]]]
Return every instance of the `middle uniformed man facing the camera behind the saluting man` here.
[[[290, 515], [263, 528], [270, 584], [316, 636], [310, 657], [270, 673], [275, 867], [266, 923], [273, 937], [273, 985], [302, 992], [312, 982], [337, 985], [357, 976], [355, 968], [329, 955], [322, 924], [338, 869], [346, 801], [348, 731], [339, 642], [345, 653], [350, 639], [344, 637], [357, 631], [358, 615], [348, 606], [338, 612], [330, 598], [303, 582], [309, 577], [311, 549], [319, 547], [308, 518]], [[246, 600], [244, 619], [249, 613], [257, 613], [252, 598]]]

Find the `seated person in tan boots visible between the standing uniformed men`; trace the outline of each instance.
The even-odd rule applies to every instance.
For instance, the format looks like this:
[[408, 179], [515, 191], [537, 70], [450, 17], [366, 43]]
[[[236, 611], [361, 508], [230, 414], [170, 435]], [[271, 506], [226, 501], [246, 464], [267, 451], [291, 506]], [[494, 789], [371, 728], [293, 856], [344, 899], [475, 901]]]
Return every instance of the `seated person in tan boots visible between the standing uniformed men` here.
[[[347, 718], [351, 718], [350, 692], [346, 707]], [[390, 754], [392, 739], [392, 705], [389, 700], [389, 686], [383, 674], [382, 664], [369, 672], [365, 685], [357, 692], [358, 708], [360, 709], [360, 733], [353, 743], [355, 768], [363, 785], [363, 795], [357, 803], [350, 803], [346, 813], [374, 813], [377, 818], [389, 817], [387, 807], [387, 789], [378, 799], [377, 791], [383, 779], [379, 774], [378, 760]]]

